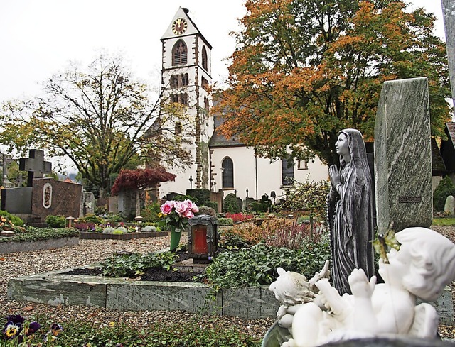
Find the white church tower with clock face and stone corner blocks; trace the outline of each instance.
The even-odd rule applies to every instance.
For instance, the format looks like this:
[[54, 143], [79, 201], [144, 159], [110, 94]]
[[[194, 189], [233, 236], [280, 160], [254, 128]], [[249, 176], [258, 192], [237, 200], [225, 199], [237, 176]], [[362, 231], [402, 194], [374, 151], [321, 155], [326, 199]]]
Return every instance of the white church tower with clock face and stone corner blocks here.
[[[161, 184], [160, 194], [186, 193], [186, 189], [209, 189], [210, 159], [208, 141], [213, 133], [213, 118], [209, 114], [212, 99], [212, 46], [188, 16], [188, 9], [179, 8], [161, 38], [161, 88], [164, 99], [183, 104], [191, 119], [194, 138], [191, 138], [193, 165], [177, 175], [174, 182]], [[174, 126], [178, 127], [177, 122]]]

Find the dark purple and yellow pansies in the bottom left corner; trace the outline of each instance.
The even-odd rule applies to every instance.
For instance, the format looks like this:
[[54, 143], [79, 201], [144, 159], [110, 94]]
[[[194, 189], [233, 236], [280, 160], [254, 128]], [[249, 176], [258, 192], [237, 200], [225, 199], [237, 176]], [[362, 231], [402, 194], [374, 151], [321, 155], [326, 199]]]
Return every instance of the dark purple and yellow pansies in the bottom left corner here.
[[[37, 342], [33, 346], [50, 346], [52, 341], [58, 338], [60, 331], [63, 331], [63, 326], [52, 324], [49, 331], [43, 336], [42, 342], [38, 342], [37, 340], [40, 338], [35, 336], [39, 329], [41, 329], [41, 325], [37, 321], [25, 321], [20, 314], [6, 316], [0, 346], [4, 346], [2, 342], [6, 343], [5, 346], [32, 346], [33, 342]], [[43, 345], [43, 343], [45, 344]]]

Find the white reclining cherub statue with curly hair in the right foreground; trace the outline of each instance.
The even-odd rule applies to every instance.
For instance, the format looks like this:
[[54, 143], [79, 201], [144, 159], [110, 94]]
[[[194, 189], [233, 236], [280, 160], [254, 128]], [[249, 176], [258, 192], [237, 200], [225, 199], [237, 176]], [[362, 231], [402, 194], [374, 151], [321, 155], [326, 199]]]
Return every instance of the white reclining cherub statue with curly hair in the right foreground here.
[[[407, 228], [396, 233], [400, 250], [380, 260], [385, 283], [376, 285], [361, 269], [350, 274], [353, 294], [340, 296], [326, 278], [312, 302], [297, 305], [286, 319], [292, 337], [282, 347], [312, 347], [330, 341], [400, 334], [419, 338], [437, 336], [438, 316], [431, 305], [455, 277], [455, 245], [436, 231]], [[289, 311], [289, 309], [288, 309]], [[289, 323], [290, 321], [290, 323]]]

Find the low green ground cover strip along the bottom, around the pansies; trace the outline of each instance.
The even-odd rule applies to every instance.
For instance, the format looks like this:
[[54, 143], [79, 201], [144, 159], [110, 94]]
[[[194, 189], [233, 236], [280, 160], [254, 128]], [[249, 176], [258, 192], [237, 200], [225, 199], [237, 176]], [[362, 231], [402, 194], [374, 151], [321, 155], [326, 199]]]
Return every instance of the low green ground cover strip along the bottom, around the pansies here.
[[[10, 316], [11, 317], [11, 316]], [[203, 324], [200, 321], [203, 320]], [[156, 321], [151, 324], [126, 324], [112, 321], [109, 324], [95, 324], [94, 321], [70, 320], [65, 324], [50, 322], [45, 316], [33, 317], [31, 321], [38, 323], [38, 329], [32, 335], [26, 335], [25, 329], [14, 331], [11, 326], [10, 338], [0, 336], [0, 347], [18, 346], [18, 337], [23, 338], [24, 346], [30, 347], [259, 347], [259, 337], [241, 334], [235, 328], [226, 329], [212, 316], [195, 316], [184, 322]], [[6, 321], [1, 321], [1, 326]], [[28, 321], [23, 326], [33, 326]], [[58, 326], [57, 336], [44, 341], [45, 334], [52, 336], [48, 326]], [[13, 333], [17, 332], [17, 337]], [[22, 346], [22, 345], [21, 345]]]

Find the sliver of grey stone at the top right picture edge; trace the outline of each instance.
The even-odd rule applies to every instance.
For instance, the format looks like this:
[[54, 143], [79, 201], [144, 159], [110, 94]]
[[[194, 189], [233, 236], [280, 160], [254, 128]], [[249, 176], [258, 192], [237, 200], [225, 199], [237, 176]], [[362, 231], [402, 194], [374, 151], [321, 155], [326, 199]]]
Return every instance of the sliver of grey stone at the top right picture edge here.
[[441, 0], [452, 99], [455, 104], [455, 1]]

